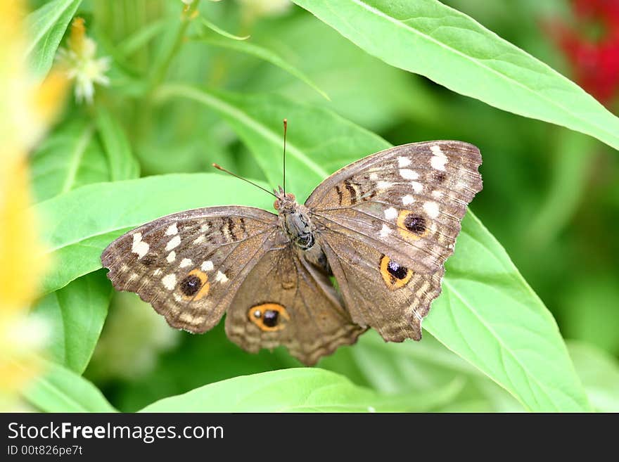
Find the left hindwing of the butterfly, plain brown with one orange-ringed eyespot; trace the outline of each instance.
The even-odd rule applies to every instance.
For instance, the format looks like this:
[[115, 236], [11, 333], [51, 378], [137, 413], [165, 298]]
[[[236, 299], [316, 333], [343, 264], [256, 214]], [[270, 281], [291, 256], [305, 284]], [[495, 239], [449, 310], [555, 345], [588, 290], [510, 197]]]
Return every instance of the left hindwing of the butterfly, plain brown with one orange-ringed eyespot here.
[[226, 314], [228, 338], [249, 352], [283, 345], [315, 364], [365, 331], [326, 274], [300, 259], [286, 236], [250, 271]]

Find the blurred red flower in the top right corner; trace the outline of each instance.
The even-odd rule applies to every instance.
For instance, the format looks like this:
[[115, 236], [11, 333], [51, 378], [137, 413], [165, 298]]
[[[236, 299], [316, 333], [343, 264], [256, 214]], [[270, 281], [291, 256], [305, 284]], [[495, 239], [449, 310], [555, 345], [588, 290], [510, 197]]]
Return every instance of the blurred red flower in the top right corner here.
[[[619, 91], [619, 0], [572, 0], [575, 26], [554, 23], [551, 34], [565, 53], [576, 82], [602, 103]], [[583, 32], [602, 28], [597, 39]]]

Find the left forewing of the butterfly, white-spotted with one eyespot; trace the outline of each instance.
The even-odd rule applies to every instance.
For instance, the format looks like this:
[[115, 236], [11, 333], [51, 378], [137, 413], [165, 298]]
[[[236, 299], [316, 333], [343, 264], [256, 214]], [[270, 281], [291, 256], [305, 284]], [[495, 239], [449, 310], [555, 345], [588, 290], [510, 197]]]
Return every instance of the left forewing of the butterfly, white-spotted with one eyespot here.
[[113, 241], [101, 255], [117, 290], [150, 302], [170, 326], [215, 326], [276, 228], [253, 207], [208, 207], [156, 219]]

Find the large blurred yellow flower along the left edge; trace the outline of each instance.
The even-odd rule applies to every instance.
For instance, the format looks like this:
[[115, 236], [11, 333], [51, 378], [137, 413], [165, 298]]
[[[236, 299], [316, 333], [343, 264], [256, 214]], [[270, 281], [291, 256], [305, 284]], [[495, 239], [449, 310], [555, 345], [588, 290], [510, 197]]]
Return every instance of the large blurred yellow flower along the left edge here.
[[21, 1], [0, 2], [0, 406], [38, 371], [46, 326], [28, 316], [46, 269], [32, 212], [27, 152], [56, 115], [67, 87], [57, 72], [37, 84], [25, 63]]

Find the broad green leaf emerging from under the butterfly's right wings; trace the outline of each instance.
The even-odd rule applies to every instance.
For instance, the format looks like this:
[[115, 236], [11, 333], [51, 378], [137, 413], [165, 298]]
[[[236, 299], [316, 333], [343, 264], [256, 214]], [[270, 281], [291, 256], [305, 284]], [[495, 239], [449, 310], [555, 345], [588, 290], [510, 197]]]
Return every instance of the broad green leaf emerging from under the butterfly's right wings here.
[[532, 411], [588, 411], [559, 328], [501, 245], [468, 213], [443, 295], [423, 323]]

